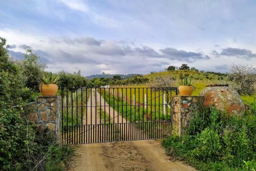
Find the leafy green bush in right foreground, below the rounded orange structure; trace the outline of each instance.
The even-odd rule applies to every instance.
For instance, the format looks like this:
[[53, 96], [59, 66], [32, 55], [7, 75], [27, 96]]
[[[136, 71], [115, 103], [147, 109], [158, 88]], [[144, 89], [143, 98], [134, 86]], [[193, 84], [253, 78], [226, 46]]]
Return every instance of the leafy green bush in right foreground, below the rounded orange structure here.
[[167, 154], [201, 170], [253, 170], [256, 168], [256, 116], [221, 113], [200, 108], [183, 137], [163, 141]]

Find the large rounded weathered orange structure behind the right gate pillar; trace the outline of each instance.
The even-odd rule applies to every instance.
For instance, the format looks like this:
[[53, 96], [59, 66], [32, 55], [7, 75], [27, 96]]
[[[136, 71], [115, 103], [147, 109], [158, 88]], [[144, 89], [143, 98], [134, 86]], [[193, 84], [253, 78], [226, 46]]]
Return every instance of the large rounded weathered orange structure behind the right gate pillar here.
[[240, 95], [231, 87], [208, 85], [200, 92], [200, 95], [204, 96], [203, 106], [214, 105], [219, 110], [239, 115], [245, 110]]

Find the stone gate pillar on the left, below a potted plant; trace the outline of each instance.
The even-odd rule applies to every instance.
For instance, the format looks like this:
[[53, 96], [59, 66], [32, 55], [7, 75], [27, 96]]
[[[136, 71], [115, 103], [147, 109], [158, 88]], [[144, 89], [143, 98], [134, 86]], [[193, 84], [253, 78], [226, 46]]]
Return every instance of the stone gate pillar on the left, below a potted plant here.
[[24, 111], [24, 117], [36, 124], [38, 136], [60, 140], [60, 96], [38, 96]]

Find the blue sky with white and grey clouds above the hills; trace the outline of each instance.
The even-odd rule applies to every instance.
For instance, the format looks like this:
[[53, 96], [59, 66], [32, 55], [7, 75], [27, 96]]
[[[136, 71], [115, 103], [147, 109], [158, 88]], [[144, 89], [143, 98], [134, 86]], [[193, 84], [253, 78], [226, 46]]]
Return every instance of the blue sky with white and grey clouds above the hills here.
[[0, 37], [20, 59], [84, 76], [147, 74], [187, 63], [226, 72], [256, 65], [256, 1], [4, 1]]

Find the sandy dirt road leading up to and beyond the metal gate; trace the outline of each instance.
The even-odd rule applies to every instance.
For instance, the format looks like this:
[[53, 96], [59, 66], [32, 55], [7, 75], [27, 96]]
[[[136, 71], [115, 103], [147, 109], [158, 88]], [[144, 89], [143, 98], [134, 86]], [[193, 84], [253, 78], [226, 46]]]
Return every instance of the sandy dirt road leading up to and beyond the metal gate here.
[[[93, 91], [93, 94], [95, 91]], [[97, 92], [96, 92], [97, 93]], [[95, 106], [95, 96], [92, 95], [92, 104]], [[104, 101], [97, 94], [96, 102]], [[90, 112], [95, 112], [91, 109]], [[110, 109], [114, 113], [113, 109]], [[106, 111], [109, 111], [106, 110]], [[99, 118], [99, 117], [97, 117]], [[93, 118], [92, 120], [94, 120]], [[123, 118], [119, 118], [120, 120]], [[76, 164], [70, 170], [196, 170], [182, 162], [168, 160], [160, 140], [139, 140], [108, 143], [80, 144], [77, 149]]]

